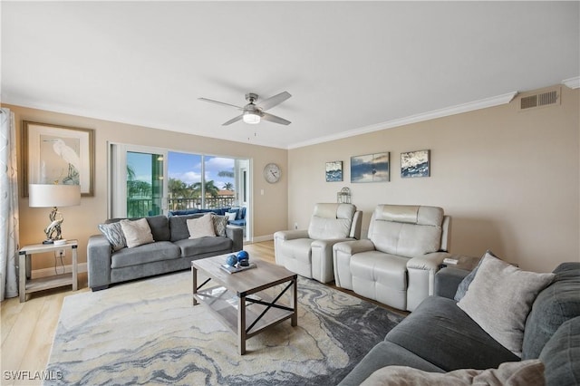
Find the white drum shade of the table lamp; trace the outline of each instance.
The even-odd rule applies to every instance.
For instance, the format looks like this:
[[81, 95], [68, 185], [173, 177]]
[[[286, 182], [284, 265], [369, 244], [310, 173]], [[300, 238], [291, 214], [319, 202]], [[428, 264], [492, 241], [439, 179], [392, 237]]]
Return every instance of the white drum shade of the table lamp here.
[[80, 185], [30, 184], [29, 207], [73, 207], [81, 205]]

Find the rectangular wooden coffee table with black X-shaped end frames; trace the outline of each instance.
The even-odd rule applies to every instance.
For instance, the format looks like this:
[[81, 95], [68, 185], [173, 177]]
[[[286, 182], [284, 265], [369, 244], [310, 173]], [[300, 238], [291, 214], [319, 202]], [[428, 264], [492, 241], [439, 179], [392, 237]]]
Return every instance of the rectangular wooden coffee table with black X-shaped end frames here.
[[[252, 259], [256, 268], [228, 274], [220, 268], [227, 256], [214, 256], [191, 262], [193, 305], [206, 304], [233, 333], [237, 333], [238, 352], [246, 353], [248, 338], [261, 333], [267, 327], [290, 319], [298, 325], [297, 275], [281, 265]], [[209, 278], [198, 285], [198, 271]], [[218, 286], [209, 287], [211, 281]], [[205, 287], [208, 285], [208, 287]], [[280, 285], [280, 291], [266, 289]], [[290, 300], [283, 304], [282, 296], [291, 289]]]

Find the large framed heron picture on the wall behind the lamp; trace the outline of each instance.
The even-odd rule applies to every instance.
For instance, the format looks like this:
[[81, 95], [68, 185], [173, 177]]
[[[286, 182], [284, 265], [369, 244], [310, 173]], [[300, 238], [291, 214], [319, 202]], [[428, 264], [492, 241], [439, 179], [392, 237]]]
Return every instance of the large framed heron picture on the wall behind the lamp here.
[[81, 185], [94, 196], [94, 130], [23, 121], [23, 196], [28, 184]]

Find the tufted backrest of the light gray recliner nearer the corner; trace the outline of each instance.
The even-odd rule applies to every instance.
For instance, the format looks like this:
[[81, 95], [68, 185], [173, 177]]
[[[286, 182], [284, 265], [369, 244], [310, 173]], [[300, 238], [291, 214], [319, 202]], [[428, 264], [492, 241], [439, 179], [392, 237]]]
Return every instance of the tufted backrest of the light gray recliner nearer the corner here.
[[315, 240], [347, 238], [351, 234], [353, 204], [316, 204], [308, 226], [308, 237]]

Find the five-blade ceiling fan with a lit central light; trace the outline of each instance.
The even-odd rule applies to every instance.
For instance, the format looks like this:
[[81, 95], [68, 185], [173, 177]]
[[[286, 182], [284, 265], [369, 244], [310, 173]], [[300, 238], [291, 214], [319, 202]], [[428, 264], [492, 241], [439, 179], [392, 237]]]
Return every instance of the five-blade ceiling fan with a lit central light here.
[[265, 111], [272, 109], [274, 106], [277, 106], [278, 104], [287, 100], [291, 96], [292, 95], [290, 95], [289, 92], [280, 92], [279, 94], [274, 95], [273, 97], [270, 97], [270, 98], [256, 104], [256, 101], [258, 99], [258, 95], [254, 92], [249, 92], [246, 94], [246, 101], [248, 101], [249, 103], [247, 103], [247, 105], [244, 107], [225, 103], [223, 101], [214, 101], [214, 100], [211, 100], [208, 98], [198, 98], [198, 99], [199, 99], [199, 101], [209, 101], [211, 103], [217, 103], [217, 104], [221, 104], [224, 106], [235, 107], [237, 110], [243, 111], [241, 115], [238, 115], [236, 118], [232, 118], [231, 120], [227, 121], [226, 123], [223, 123], [222, 126], [227, 126], [231, 123], [234, 123], [234, 122], [237, 122], [240, 120], [245, 121], [246, 123], [250, 123], [250, 124], [259, 123], [260, 120], [266, 120], [266, 121], [271, 121], [274, 123], [280, 123], [282, 125], [289, 125], [291, 123], [290, 121], [286, 121], [284, 118], [277, 117], [277, 116], [270, 114], [270, 113], [267, 113]]

